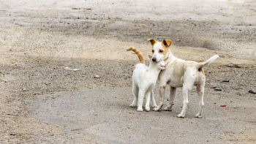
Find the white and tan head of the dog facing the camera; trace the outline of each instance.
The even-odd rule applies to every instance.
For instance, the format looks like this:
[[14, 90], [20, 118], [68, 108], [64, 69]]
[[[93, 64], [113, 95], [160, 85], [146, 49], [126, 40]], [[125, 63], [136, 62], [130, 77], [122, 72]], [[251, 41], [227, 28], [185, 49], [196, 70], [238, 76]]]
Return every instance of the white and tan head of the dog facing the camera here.
[[159, 62], [165, 59], [165, 55], [169, 51], [170, 44], [172, 41], [170, 39], [164, 39], [162, 42], [158, 42], [155, 39], [148, 39], [152, 45], [152, 61]]

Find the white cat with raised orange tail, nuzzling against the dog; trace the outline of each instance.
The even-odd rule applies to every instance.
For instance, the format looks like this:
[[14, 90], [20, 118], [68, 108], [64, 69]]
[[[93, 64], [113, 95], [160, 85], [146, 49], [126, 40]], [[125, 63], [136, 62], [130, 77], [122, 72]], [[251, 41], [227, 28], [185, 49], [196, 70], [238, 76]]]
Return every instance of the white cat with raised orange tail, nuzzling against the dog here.
[[159, 60], [159, 62], [153, 62], [151, 56], [148, 56], [150, 59], [149, 66], [146, 66], [143, 56], [140, 51], [135, 48], [127, 48], [127, 51], [132, 50], [140, 59], [141, 64], [136, 64], [135, 69], [132, 74], [132, 92], [134, 99], [129, 107], [136, 107], [138, 104], [138, 112], [143, 111], [143, 98], [146, 96], [146, 111], [150, 110], [149, 103], [150, 98], [152, 101], [153, 107], [157, 107], [156, 101], [154, 99], [154, 86], [157, 83], [157, 77], [159, 72], [162, 69], [165, 69], [165, 61]]

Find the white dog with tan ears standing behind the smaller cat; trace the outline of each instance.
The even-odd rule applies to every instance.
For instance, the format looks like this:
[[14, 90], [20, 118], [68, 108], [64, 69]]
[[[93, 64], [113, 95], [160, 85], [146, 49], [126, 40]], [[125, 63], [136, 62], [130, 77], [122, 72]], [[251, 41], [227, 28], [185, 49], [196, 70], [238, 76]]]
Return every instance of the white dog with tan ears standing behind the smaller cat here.
[[154, 110], [160, 110], [162, 108], [165, 96], [165, 87], [170, 85], [170, 99], [169, 105], [165, 107], [165, 110], [172, 110], [174, 97], [176, 94], [176, 88], [183, 87], [183, 107], [181, 113], [178, 114], [179, 118], [183, 118], [186, 114], [187, 104], [189, 103], [188, 92], [192, 90], [193, 86], [197, 86], [197, 94], [200, 96], [200, 110], [195, 115], [197, 118], [202, 117], [203, 110], [203, 94], [204, 86], [206, 83], [206, 76], [203, 72], [203, 67], [210, 64], [218, 55], [214, 55], [205, 62], [185, 61], [180, 58], [176, 58], [170, 52], [171, 40], [164, 39], [162, 42], [157, 42], [155, 39], [148, 39], [153, 47], [152, 49], [152, 61], [165, 60], [167, 64], [166, 69], [159, 73], [159, 105]]

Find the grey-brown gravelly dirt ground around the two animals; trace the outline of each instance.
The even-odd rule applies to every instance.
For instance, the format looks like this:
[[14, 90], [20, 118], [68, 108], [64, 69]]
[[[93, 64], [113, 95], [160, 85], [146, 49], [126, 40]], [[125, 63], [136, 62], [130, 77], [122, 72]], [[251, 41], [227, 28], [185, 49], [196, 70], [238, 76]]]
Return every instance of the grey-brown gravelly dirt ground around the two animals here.
[[[0, 143], [256, 143], [255, 37], [253, 0], [1, 0]], [[219, 54], [203, 118], [193, 91], [177, 118], [181, 88], [171, 112], [129, 107], [126, 48], [147, 58], [148, 38], [186, 60]]]

